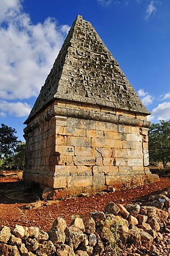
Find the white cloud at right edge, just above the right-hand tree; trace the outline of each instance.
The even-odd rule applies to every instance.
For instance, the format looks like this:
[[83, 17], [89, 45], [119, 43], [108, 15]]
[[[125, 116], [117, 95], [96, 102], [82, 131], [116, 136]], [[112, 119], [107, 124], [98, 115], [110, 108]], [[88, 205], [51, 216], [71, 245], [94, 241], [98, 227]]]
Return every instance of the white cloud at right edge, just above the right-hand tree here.
[[[152, 114], [149, 117], [151, 120], [169, 120], [170, 119], [170, 102], [163, 102], [152, 110]], [[148, 118], [148, 119], [149, 119]]]

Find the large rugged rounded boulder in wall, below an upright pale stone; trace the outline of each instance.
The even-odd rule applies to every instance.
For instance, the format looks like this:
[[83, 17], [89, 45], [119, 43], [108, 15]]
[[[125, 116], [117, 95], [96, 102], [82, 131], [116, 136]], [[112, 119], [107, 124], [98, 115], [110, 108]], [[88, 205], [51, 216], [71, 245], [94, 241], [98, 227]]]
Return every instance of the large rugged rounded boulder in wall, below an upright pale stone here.
[[80, 228], [70, 226], [65, 229], [66, 242], [68, 245], [72, 246], [73, 249], [77, 249], [79, 244], [83, 242], [84, 235]]

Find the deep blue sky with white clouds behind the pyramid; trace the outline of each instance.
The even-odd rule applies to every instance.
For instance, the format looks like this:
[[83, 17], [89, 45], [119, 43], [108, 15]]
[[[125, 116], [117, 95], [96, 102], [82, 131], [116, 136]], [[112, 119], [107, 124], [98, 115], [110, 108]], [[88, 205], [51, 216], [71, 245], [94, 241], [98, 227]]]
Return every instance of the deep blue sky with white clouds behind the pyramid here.
[[154, 123], [170, 119], [169, 0], [1, 0], [0, 123], [27, 119], [80, 14], [120, 64]]

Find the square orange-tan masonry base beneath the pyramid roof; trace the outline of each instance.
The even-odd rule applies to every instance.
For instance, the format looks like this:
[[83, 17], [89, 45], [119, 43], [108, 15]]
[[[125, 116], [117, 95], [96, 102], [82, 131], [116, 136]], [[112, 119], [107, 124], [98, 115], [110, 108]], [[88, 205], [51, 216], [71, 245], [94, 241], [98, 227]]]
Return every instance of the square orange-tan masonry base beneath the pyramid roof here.
[[[142, 127], [149, 125], [146, 117], [72, 102], [51, 107], [53, 117], [46, 109], [25, 130], [25, 181], [69, 193], [140, 185], [155, 178], [147, 167], [148, 128]], [[85, 114], [91, 119], [84, 119]]]

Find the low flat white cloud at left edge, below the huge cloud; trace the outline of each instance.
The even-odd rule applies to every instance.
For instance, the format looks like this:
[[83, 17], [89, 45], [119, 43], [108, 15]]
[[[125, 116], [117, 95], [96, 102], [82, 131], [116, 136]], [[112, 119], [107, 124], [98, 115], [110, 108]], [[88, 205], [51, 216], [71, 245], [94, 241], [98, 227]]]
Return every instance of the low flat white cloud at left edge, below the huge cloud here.
[[5, 100], [0, 101], [0, 116], [5, 117], [6, 113], [14, 115], [16, 117], [28, 116], [31, 107], [26, 102], [7, 102]]

